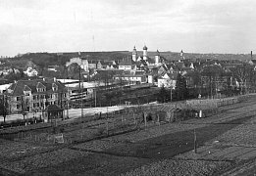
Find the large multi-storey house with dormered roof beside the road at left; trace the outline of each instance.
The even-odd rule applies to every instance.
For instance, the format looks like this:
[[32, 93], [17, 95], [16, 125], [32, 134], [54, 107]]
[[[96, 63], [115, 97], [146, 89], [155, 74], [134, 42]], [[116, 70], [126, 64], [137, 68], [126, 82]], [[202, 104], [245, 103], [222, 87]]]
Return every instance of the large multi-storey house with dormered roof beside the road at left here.
[[9, 111], [45, 110], [48, 105], [63, 107], [69, 100], [64, 84], [54, 79], [19, 80], [6, 91]]

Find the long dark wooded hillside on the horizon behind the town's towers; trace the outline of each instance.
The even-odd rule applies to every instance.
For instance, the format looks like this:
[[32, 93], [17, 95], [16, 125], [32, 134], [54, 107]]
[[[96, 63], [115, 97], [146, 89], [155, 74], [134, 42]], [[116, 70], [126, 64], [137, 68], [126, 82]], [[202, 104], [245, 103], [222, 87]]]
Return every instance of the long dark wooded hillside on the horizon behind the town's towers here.
[[[142, 56], [142, 51], [137, 51], [138, 56]], [[148, 52], [150, 58], [154, 58], [156, 52]], [[179, 60], [178, 52], [160, 52], [160, 55], [168, 61]], [[131, 51], [110, 51], [110, 52], [78, 52], [71, 53], [27, 53], [19, 57], [8, 59], [9, 65], [25, 66], [27, 61], [32, 61], [37, 66], [51, 66], [65, 64], [72, 58], [81, 57], [87, 60], [122, 60], [123, 58], [131, 57]], [[249, 54], [197, 54], [184, 53], [185, 59], [212, 59], [212, 60], [249, 60]], [[255, 59], [255, 55], [253, 55]]]

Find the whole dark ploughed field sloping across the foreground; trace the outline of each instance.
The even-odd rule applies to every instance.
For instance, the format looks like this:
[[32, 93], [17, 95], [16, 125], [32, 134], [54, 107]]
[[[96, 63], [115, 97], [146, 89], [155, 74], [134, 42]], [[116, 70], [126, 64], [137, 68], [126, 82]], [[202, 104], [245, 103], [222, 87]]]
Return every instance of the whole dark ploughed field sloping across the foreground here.
[[255, 103], [254, 96], [213, 116], [149, 122], [146, 128], [131, 113], [113, 115], [108, 123], [84, 120], [64, 126], [63, 144], [54, 143], [52, 128], [0, 134], [0, 170], [3, 175], [236, 173], [233, 168], [256, 158]]

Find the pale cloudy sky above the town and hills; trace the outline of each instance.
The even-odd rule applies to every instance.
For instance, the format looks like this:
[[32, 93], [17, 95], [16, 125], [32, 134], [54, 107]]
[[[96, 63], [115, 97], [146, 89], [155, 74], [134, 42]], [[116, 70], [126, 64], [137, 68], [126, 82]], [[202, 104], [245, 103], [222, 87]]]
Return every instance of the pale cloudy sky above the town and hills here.
[[0, 56], [256, 49], [255, 0], [0, 0]]

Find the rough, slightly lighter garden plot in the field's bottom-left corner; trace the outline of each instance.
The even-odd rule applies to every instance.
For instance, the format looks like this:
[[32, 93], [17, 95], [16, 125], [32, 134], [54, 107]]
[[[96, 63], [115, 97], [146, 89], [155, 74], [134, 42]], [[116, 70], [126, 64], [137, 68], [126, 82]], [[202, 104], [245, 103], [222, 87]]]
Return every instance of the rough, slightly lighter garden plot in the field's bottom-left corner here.
[[63, 149], [45, 154], [35, 154], [25, 157], [22, 160], [13, 162], [3, 162], [0, 163], [0, 166], [18, 173], [25, 173], [27, 171], [36, 170], [42, 167], [57, 165], [77, 157], [85, 156], [87, 154], [89, 153]]

